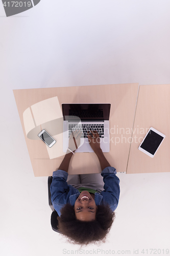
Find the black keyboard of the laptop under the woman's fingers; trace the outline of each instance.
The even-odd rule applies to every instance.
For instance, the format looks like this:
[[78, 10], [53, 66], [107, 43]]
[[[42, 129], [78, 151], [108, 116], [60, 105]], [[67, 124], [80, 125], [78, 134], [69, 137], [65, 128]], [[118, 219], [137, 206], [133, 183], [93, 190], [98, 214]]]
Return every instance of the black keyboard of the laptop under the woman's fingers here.
[[[80, 130], [82, 131], [81, 138], [87, 138], [87, 132], [97, 131], [100, 138], [104, 138], [104, 124], [68, 124], [68, 138], [72, 131]], [[91, 133], [90, 133], [91, 134]], [[91, 134], [92, 135], [92, 134]]]

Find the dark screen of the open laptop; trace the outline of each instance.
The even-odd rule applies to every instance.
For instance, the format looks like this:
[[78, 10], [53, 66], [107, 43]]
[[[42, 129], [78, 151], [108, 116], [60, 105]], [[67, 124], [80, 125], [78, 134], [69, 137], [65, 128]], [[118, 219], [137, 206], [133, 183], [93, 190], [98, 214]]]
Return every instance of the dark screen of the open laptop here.
[[109, 120], [110, 106], [110, 103], [62, 104], [63, 120], [68, 120], [68, 116], [77, 116], [82, 121]]

